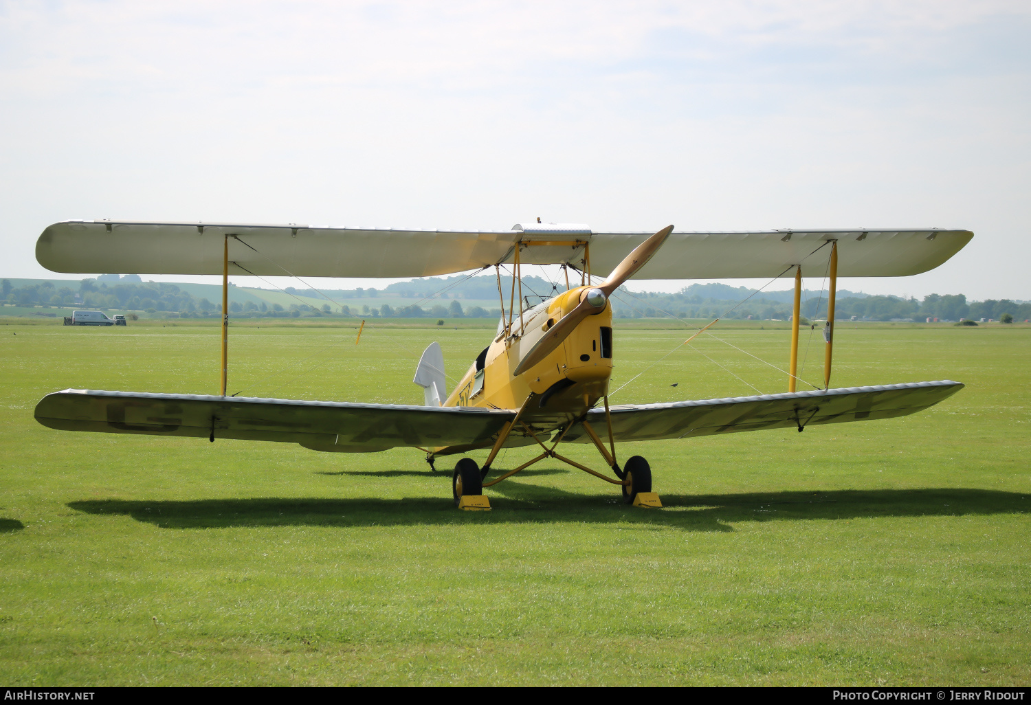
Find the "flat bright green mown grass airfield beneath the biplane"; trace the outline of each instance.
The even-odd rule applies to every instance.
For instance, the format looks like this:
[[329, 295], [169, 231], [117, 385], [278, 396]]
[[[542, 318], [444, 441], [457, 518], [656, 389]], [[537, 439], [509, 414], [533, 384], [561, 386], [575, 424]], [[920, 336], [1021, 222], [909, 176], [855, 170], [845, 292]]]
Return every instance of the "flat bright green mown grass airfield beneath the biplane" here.
[[[786, 330], [713, 331], [787, 357]], [[430, 341], [459, 377], [490, 332], [354, 335], [239, 326], [230, 392], [418, 403]], [[1031, 329], [843, 325], [832, 385], [967, 389], [905, 418], [618, 448], [648, 458], [661, 510], [544, 463], [488, 490], [493, 511], [461, 513], [450, 472], [415, 450], [32, 417], [69, 387], [214, 393], [218, 338], [0, 327], [4, 684], [1031, 682]], [[612, 389], [684, 338], [618, 326]], [[784, 391], [726, 343], [697, 339], [613, 402]], [[822, 355], [813, 338], [800, 376], [821, 380]]]

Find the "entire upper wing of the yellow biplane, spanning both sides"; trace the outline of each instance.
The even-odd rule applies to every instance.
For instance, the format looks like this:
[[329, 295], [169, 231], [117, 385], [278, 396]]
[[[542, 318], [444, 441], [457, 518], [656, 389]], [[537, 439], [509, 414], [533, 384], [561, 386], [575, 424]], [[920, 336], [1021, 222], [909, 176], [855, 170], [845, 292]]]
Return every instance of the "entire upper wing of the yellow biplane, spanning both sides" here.
[[[66, 221], [46, 228], [36, 259], [56, 272], [414, 277], [452, 274], [514, 259], [517, 240], [552, 243], [520, 254], [524, 264], [569, 263], [607, 276], [651, 232], [592, 233], [587, 226], [517, 225], [512, 230], [444, 231], [300, 225]], [[673, 232], [636, 279], [773, 277], [802, 264], [821, 273], [838, 242], [838, 276], [906, 276], [937, 267], [965, 245], [968, 230], [796, 230]], [[823, 249], [816, 255], [819, 248]]]

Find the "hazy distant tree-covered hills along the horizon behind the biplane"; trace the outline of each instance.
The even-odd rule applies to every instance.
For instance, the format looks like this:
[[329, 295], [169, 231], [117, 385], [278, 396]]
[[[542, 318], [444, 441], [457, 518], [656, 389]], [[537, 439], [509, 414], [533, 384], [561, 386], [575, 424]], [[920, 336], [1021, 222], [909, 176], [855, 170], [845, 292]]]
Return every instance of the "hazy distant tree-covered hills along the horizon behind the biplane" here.
[[[136, 275], [96, 279], [3, 279], [0, 303], [19, 312], [34, 307], [96, 308], [138, 312], [154, 317], [206, 317], [221, 312], [218, 284], [141, 281]], [[571, 284], [574, 282], [570, 282]], [[576, 281], [575, 283], [578, 283]], [[539, 276], [523, 279], [524, 305], [533, 305], [565, 291], [565, 280]], [[519, 294], [514, 294], [518, 296]], [[498, 317], [513, 296], [511, 278], [502, 277], [500, 291], [493, 275], [455, 275], [400, 281], [384, 289], [338, 289], [319, 292], [287, 287], [282, 291], [230, 287], [230, 313], [241, 317], [356, 315], [361, 317]], [[612, 297], [616, 317], [758, 318], [786, 320], [791, 315], [793, 290], [761, 291], [722, 283], [694, 283], [675, 294], [629, 292]], [[13, 312], [13, 311], [11, 311]], [[837, 316], [868, 321], [959, 321], [996, 318], [1009, 313], [1019, 321], [1031, 317], [1031, 304], [1002, 300], [967, 302], [962, 294], [931, 294], [922, 301], [896, 296], [870, 296], [840, 290]], [[827, 315], [827, 292], [805, 291], [801, 313], [806, 318]]]

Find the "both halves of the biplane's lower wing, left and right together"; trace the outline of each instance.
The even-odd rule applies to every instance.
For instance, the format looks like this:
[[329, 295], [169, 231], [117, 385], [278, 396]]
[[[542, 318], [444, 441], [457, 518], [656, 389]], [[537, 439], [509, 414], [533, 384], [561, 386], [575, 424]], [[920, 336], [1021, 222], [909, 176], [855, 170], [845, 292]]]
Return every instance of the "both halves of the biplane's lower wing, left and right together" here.
[[[611, 407], [618, 441], [693, 438], [739, 431], [904, 416], [963, 389], [956, 381]], [[63, 431], [134, 433], [299, 443], [314, 450], [370, 452], [396, 446], [489, 446], [513, 410], [65, 390], [43, 397], [36, 421]], [[605, 435], [604, 409], [588, 421]], [[525, 440], [525, 439], [523, 439]], [[590, 442], [583, 428], [565, 440]], [[527, 441], [530, 442], [530, 441]], [[506, 445], [522, 444], [509, 438]]]

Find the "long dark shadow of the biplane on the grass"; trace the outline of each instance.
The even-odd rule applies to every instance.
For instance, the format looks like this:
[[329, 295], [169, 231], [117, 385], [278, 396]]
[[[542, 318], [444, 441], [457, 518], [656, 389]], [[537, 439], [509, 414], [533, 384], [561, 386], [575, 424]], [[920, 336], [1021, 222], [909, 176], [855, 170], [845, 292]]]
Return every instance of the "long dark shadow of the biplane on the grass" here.
[[[506, 486], [507, 485], [507, 486]], [[503, 490], [502, 490], [503, 488]], [[839, 490], [738, 495], [662, 495], [665, 509], [624, 505], [619, 496], [566, 493], [527, 482], [504, 482], [492, 493], [491, 512], [456, 511], [445, 498], [260, 498], [86, 500], [68, 506], [90, 514], [124, 514], [164, 529], [285, 526], [414, 526], [474, 523], [589, 522], [731, 532], [737, 522], [961, 516], [1031, 512], [1031, 498], [974, 489]]]

